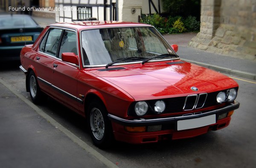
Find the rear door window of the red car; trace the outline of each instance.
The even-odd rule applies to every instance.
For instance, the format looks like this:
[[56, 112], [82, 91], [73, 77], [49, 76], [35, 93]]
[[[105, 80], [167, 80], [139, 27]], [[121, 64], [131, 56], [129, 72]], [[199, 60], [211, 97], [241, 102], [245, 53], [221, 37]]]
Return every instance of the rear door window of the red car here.
[[58, 49], [58, 43], [61, 38], [61, 29], [58, 28], [52, 28], [49, 31], [49, 35], [47, 38], [47, 42], [45, 44], [44, 52], [53, 56], [56, 56], [57, 49]]

